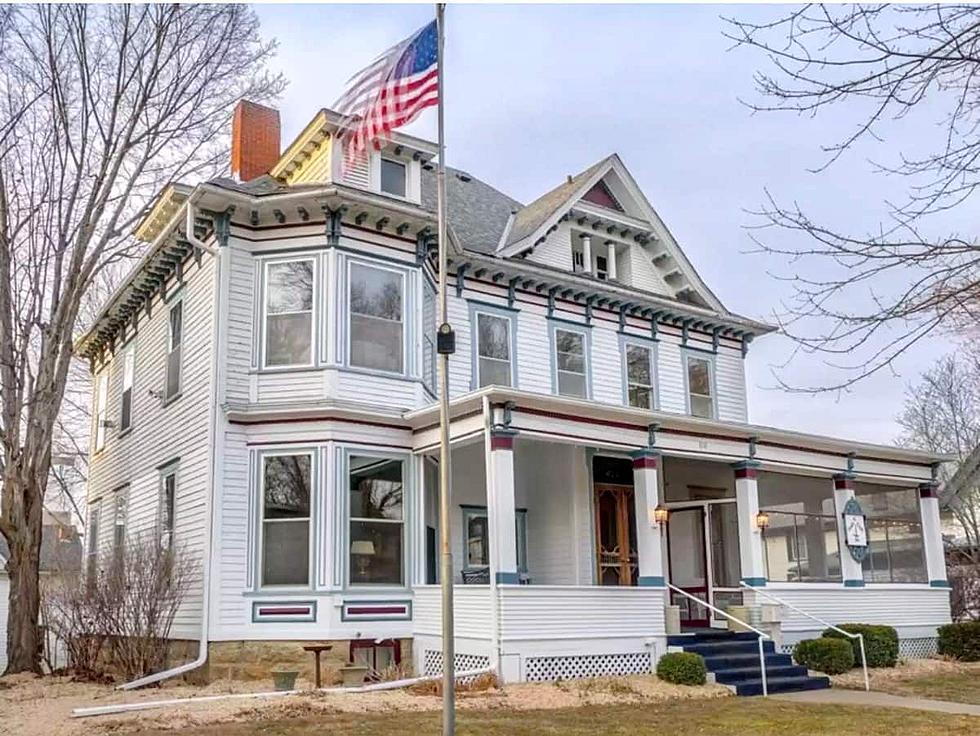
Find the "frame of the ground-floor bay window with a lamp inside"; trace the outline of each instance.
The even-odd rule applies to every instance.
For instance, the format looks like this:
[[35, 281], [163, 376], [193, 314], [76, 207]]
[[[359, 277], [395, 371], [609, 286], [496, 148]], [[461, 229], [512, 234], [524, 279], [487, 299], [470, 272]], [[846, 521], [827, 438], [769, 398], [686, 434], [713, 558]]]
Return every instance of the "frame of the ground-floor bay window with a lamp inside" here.
[[[371, 589], [380, 590], [404, 590], [411, 587], [411, 556], [414, 550], [411, 548], [411, 538], [409, 536], [409, 527], [413, 523], [414, 510], [411, 508], [411, 498], [413, 493], [413, 472], [412, 463], [410, 455], [402, 455], [397, 453], [383, 453], [377, 452], [375, 449], [363, 448], [358, 446], [345, 447], [343, 452], [343, 469], [344, 473], [342, 476], [341, 484], [338, 486], [338, 491], [343, 494], [342, 498], [342, 524], [343, 533], [340, 537], [343, 539], [343, 546], [340, 548], [339, 553], [341, 555], [341, 564], [343, 568], [343, 582], [344, 588], [347, 590], [357, 590], [365, 591]], [[350, 493], [351, 493], [351, 458], [368, 458], [378, 461], [394, 461], [401, 463], [402, 466], [402, 518], [398, 521], [394, 519], [370, 519], [360, 516], [352, 516], [350, 508]], [[382, 522], [390, 524], [400, 524], [402, 530], [401, 539], [401, 582], [399, 583], [355, 583], [351, 581], [351, 523], [355, 521], [368, 521], [368, 522]]]

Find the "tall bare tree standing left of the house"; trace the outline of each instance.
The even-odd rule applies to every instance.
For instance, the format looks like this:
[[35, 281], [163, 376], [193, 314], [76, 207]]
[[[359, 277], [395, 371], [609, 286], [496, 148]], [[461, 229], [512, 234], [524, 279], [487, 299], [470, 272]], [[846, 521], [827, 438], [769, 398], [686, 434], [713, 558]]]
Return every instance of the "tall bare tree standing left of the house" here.
[[0, 533], [7, 672], [39, 671], [38, 556], [52, 435], [93, 288], [169, 182], [221, 167], [231, 107], [267, 100], [274, 45], [235, 5], [0, 10]]

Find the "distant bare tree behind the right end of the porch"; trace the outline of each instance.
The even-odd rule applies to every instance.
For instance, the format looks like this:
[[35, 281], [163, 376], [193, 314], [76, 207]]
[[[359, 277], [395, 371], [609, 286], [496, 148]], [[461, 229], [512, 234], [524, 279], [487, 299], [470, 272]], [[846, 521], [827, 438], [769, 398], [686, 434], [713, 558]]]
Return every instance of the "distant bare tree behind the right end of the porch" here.
[[[923, 373], [907, 389], [897, 420], [903, 429], [900, 444], [955, 458], [939, 468], [945, 487], [980, 444], [980, 349], [971, 344]], [[963, 528], [965, 549], [980, 549], [980, 488], [961, 488], [940, 500]]]

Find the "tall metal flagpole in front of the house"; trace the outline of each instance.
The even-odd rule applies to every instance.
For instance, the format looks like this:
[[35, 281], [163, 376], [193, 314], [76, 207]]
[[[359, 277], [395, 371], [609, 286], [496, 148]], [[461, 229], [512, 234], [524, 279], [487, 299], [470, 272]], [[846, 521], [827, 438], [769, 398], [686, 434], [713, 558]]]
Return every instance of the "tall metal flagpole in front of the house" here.
[[[446, 302], [448, 234], [446, 228], [446, 138], [444, 125], [446, 68], [446, 5], [436, 3], [439, 67], [439, 168], [436, 170], [436, 194], [439, 240], [439, 325], [449, 325]], [[453, 552], [449, 540], [449, 352], [439, 352], [439, 543], [442, 551], [442, 733], [456, 734], [456, 642], [453, 622]]]

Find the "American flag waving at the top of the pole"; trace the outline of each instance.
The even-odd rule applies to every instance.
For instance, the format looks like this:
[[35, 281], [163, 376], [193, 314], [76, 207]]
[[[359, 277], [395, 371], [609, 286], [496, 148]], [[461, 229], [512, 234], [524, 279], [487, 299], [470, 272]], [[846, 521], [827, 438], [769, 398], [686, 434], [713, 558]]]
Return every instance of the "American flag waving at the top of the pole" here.
[[380, 149], [392, 130], [438, 104], [438, 48], [438, 27], [432, 21], [351, 77], [334, 105], [344, 116], [345, 165], [368, 146]]

